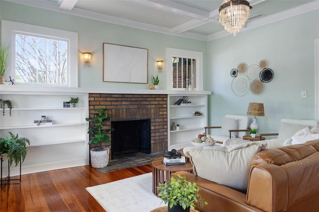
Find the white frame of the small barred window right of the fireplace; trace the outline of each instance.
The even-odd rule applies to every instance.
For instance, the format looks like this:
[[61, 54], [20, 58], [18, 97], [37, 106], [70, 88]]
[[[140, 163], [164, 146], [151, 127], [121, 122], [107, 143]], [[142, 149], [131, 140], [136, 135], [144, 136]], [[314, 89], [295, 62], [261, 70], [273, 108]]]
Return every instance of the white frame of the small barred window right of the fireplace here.
[[166, 48], [166, 70], [167, 70], [167, 90], [185, 90], [185, 88], [173, 88], [173, 66], [172, 58], [192, 58], [196, 59], [196, 91], [203, 90], [203, 52], [183, 50], [177, 48]]

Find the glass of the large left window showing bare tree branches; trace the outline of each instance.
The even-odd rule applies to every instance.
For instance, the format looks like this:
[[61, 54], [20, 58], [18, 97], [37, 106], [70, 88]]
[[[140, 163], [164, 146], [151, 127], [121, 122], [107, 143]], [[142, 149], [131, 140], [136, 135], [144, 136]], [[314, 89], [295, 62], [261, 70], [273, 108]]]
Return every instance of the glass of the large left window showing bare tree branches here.
[[15, 80], [66, 84], [67, 42], [16, 34]]

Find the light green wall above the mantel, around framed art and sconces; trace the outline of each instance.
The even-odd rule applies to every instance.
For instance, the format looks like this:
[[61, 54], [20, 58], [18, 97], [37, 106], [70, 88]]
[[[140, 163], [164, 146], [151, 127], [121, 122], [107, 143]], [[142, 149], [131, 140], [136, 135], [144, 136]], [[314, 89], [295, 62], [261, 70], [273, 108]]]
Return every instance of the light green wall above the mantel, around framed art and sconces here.
[[[156, 61], [164, 60], [164, 63], [166, 62], [166, 47], [201, 51], [204, 55], [203, 59], [206, 61], [205, 41], [91, 20], [8, 1], [1, 1], [0, 12], [1, 19], [77, 32], [79, 38], [79, 87], [114, 89], [146, 89], [148, 87], [147, 84], [103, 82], [103, 42], [147, 48], [149, 53], [148, 83], [152, 83], [152, 74], [156, 76], [158, 73]], [[80, 57], [82, 52], [92, 53], [91, 67], [83, 65]], [[204, 69], [206, 69], [205, 63]], [[159, 73], [159, 79], [160, 89], [166, 89], [165, 67]]]

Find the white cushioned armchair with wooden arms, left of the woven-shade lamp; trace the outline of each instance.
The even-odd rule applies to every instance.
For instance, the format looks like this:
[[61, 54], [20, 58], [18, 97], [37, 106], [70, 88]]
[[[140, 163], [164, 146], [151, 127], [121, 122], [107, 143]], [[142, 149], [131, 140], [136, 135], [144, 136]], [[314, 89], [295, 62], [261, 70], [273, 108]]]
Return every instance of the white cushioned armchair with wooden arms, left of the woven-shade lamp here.
[[[243, 136], [247, 135], [250, 131], [248, 128], [249, 118], [247, 116], [238, 115], [225, 115], [222, 119], [221, 126], [215, 127], [204, 127], [205, 133], [211, 135], [211, 137], [216, 141], [216, 143], [222, 144], [226, 139], [229, 138], [239, 138], [242, 139]], [[208, 132], [208, 129], [220, 129], [220, 133]]]

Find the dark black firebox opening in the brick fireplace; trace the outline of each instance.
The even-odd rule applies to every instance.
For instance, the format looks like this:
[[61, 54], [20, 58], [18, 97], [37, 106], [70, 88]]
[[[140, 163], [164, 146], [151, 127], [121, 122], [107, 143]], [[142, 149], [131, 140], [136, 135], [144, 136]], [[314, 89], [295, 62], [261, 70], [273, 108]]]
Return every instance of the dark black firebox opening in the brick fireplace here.
[[151, 120], [112, 121], [113, 156], [142, 152], [151, 153]]

